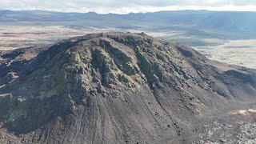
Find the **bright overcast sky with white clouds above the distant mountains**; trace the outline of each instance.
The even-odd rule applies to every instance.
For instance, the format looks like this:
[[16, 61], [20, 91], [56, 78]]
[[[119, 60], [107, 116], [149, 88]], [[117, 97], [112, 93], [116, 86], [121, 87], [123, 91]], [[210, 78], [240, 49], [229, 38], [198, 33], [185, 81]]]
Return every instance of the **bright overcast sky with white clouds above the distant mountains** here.
[[256, 11], [256, 0], [0, 0], [3, 10], [54, 10], [100, 14], [159, 10]]

